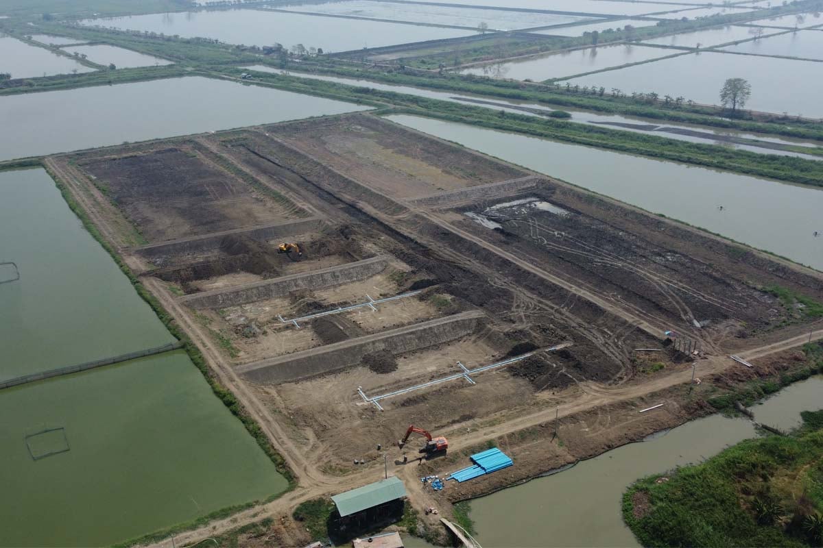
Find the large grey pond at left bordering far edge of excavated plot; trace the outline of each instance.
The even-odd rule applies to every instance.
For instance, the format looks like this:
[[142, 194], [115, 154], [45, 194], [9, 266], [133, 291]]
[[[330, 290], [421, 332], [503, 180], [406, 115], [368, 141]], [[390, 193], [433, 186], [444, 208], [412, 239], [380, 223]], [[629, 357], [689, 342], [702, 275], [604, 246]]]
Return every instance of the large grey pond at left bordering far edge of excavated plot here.
[[7, 95], [0, 160], [364, 109], [200, 76]]

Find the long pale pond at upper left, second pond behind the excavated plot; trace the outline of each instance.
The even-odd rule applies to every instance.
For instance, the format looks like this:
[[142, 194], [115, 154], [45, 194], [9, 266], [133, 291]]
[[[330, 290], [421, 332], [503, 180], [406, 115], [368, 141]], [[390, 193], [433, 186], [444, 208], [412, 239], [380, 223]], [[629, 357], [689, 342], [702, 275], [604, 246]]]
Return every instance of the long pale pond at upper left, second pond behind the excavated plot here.
[[81, 23], [180, 35], [184, 38], [202, 36], [228, 44], [282, 44], [286, 48], [303, 44], [306, 48], [323, 48], [325, 53], [475, 34], [474, 30], [245, 9], [152, 13], [144, 16], [89, 19]]

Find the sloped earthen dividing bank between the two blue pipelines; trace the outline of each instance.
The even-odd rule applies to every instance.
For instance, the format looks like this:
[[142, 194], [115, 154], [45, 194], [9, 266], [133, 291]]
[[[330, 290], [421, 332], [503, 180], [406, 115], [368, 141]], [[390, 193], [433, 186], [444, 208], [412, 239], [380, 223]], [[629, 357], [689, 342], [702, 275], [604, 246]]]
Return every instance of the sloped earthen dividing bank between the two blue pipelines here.
[[483, 317], [485, 316], [479, 311], [463, 312], [287, 356], [255, 361], [239, 366], [237, 371], [246, 379], [260, 383], [298, 380], [354, 366], [366, 354], [379, 350], [402, 354], [448, 343], [475, 332]]

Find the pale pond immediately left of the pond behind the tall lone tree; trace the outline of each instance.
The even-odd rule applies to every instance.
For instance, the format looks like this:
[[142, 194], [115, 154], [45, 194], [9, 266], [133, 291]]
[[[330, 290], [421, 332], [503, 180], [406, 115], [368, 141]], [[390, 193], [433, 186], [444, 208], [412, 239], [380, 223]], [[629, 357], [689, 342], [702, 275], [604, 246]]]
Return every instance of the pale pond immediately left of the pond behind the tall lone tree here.
[[550, 78], [563, 78], [583, 74], [584, 72], [602, 71], [629, 63], [663, 58], [672, 55], [672, 53], [677, 52], [663, 48], [644, 48], [632, 44], [618, 44], [471, 67], [461, 71], [461, 74], [544, 81]]

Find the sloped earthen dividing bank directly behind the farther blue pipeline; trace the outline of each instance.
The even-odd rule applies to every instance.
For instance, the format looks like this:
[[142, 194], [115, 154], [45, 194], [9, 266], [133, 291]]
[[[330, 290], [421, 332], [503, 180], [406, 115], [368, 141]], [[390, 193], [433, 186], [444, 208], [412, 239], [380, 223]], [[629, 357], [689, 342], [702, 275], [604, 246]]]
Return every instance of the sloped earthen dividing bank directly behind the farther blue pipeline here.
[[180, 297], [179, 302], [194, 309], [224, 308], [249, 302], [283, 297], [298, 289], [331, 288], [342, 283], [359, 282], [379, 274], [388, 265], [388, 257], [378, 256], [347, 265], [332, 266], [305, 274], [291, 274], [260, 282], [244, 283], [233, 288], [216, 289]]

